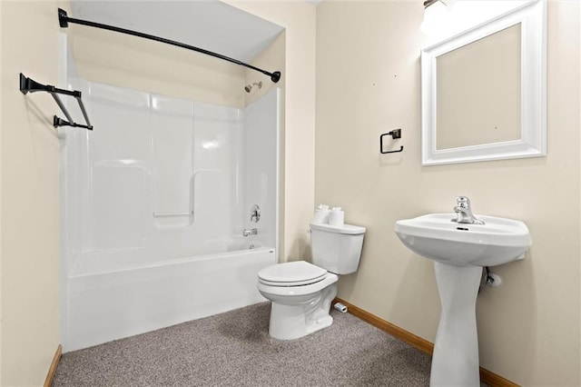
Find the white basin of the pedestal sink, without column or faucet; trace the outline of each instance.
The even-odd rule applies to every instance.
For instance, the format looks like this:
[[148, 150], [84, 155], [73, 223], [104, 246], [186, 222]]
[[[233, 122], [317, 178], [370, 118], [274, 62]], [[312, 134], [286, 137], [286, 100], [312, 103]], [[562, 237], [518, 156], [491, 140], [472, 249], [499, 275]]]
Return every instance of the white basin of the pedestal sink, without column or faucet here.
[[440, 263], [495, 266], [525, 257], [530, 234], [525, 223], [478, 215], [485, 224], [451, 222], [455, 213], [430, 213], [396, 222], [409, 250]]

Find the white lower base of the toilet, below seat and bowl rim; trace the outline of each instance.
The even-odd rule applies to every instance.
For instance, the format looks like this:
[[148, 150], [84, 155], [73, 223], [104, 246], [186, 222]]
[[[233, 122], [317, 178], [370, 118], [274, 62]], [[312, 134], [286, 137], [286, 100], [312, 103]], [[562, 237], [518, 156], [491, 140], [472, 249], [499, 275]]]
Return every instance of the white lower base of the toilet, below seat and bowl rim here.
[[333, 283], [308, 303], [285, 305], [272, 302], [269, 333], [278, 340], [294, 340], [312, 332], [320, 331], [333, 323], [330, 303], [337, 295], [337, 284]]

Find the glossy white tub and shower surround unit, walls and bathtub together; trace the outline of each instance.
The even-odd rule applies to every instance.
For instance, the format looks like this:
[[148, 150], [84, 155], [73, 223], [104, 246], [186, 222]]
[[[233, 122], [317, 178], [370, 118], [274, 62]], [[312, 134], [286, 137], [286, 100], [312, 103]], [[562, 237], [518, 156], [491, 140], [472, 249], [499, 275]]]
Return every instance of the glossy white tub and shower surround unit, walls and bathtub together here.
[[63, 47], [94, 125], [59, 128], [64, 352], [265, 301], [278, 89], [244, 108], [123, 89], [80, 78]]

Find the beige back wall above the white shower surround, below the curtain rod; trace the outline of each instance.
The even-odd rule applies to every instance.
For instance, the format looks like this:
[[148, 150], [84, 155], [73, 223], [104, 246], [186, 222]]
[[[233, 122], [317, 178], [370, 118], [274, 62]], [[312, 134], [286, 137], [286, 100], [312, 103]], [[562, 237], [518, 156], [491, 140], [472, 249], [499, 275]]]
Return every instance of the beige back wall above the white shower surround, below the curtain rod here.
[[208, 104], [244, 105], [240, 65], [84, 25], [71, 25], [66, 32], [74, 64], [86, 80]]

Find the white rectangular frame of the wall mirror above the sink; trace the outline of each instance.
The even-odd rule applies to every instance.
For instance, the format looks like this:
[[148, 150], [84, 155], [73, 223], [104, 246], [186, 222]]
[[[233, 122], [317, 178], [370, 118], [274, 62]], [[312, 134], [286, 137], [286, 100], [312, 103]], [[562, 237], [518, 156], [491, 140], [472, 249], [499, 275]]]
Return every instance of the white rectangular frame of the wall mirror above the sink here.
[[[436, 59], [512, 25], [521, 25], [521, 138], [438, 150]], [[422, 165], [472, 163], [547, 155], [547, 2], [527, 3], [421, 53]]]

